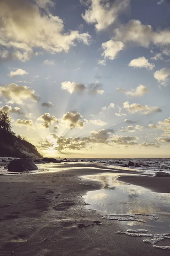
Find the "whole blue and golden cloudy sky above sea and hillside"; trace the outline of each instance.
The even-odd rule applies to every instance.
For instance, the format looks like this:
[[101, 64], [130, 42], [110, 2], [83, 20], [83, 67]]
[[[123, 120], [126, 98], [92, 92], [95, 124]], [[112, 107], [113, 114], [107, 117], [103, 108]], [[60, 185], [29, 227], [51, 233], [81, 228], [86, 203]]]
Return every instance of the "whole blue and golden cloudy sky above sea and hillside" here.
[[43, 156], [170, 157], [169, 99], [169, 0], [0, 0], [0, 110]]

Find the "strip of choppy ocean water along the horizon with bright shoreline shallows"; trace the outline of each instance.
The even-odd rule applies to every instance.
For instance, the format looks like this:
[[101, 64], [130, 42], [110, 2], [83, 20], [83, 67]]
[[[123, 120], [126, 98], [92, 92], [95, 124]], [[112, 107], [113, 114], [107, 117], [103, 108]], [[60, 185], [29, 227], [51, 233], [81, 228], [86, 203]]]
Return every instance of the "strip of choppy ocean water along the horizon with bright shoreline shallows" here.
[[[1, 159], [8, 159], [8, 157], [1, 157]], [[60, 158], [62, 159], [62, 158]], [[147, 174], [154, 175], [156, 172], [163, 171], [170, 173], [170, 158], [122, 158], [122, 159], [115, 159], [115, 158], [67, 158], [70, 160], [70, 163], [97, 163], [102, 165], [102, 167], [113, 167], [118, 169], [137, 169], [141, 172], [146, 172]], [[138, 167], [124, 167], [123, 165], [128, 164], [128, 162], [132, 161], [135, 163], [139, 163], [141, 168]], [[1, 160], [0, 160], [1, 162]], [[8, 163], [6, 163], [8, 165]], [[63, 165], [63, 169], [65, 169], [65, 164], [60, 163], [59, 165]], [[147, 166], [145, 166], [147, 165]], [[50, 163], [50, 164], [37, 164], [38, 170], [34, 172], [48, 172], [49, 170], [55, 172], [61, 169], [57, 169], [58, 164]], [[31, 172], [30, 172], [31, 173]], [[8, 169], [4, 169], [4, 165], [0, 166], [0, 174], [9, 174]]]

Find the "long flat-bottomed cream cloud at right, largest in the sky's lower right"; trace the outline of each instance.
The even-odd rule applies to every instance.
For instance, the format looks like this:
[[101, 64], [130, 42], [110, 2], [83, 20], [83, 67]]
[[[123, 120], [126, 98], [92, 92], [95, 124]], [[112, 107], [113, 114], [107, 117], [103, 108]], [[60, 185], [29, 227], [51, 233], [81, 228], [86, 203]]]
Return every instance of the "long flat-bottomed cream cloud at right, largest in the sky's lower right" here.
[[125, 108], [131, 114], [139, 113], [139, 114], [148, 115], [150, 113], [154, 113], [154, 112], [157, 113], [162, 111], [158, 107], [149, 107], [147, 105], [143, 106], [139, 103], [129, 104], [129, 102], [124, 102], [123, 108]]

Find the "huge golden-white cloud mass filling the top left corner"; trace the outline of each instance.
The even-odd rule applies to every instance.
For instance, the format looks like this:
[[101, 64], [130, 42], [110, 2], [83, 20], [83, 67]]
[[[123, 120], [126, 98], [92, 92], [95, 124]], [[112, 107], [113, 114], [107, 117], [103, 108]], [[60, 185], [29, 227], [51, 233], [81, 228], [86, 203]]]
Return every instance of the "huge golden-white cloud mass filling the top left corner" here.
[[78, 30], [65, 33], [62, 19], [50, 13], [42, 4], [45, 1], [39, 2], [38, 6], [28, 0], [0, 1], [1, 44], [12, 49], [16, 58], [26, 61], [37, 48], [57, 53], [68, 52], [76, 41], [89, 44], [88, 33]]

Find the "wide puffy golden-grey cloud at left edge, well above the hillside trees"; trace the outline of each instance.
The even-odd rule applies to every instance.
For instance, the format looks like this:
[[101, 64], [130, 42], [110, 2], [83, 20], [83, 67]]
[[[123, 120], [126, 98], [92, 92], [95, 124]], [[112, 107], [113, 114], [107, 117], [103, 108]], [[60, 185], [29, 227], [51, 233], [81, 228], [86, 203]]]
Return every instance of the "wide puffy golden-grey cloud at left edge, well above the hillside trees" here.
[[31, 101], [37, 102], [38, 97], [35, 95], [35, 91], [31, 90], [26, 85], [19, 86], [17, 84], [8, 84], [0, 87], [0, 96], [5, 99], [9, 99], [9, 103], [17, 102], [23, 103], [23, 100], [30, 99]]

